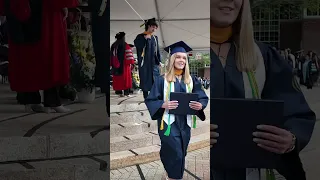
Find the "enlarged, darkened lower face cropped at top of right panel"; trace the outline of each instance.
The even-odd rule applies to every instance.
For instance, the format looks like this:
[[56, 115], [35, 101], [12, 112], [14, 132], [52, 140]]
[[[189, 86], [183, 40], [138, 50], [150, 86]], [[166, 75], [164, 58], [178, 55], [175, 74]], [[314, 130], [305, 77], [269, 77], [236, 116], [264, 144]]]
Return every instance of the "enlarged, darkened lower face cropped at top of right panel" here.
[[243, 1], [246, 0], [210, 0], [210, 20], [215, 27], [231, 26], [238, 18]]

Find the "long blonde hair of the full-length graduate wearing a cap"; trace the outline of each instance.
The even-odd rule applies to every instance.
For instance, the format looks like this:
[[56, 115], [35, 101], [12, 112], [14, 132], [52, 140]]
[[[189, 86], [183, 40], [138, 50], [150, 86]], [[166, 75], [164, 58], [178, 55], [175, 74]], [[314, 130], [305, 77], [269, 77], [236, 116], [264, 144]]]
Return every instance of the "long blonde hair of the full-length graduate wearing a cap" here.
[[[185, 84], [190, 84], [191, 82], [191, 75], [190, 75], [190, 69], [189, 69], [189, 62], [188, 62], [188, 55], [186, 54], [186, 64], [184, 67], [184, 73], [183, 73], [183, 79]], [[168, 65], [167, 65], [167, 72], [165, 74], [165, 78], [168, 82], [176, 82], [176, 76], [175, 76], [175, 68], [174, 68], [174, 62], [176, 60], [177, 53], [174, 53], [170, 56]]]

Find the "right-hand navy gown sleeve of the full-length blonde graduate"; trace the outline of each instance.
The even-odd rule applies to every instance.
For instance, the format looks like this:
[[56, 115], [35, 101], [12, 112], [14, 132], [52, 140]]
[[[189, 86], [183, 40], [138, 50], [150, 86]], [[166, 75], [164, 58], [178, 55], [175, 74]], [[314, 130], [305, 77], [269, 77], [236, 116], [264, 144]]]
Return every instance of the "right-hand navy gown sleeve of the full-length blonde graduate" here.
[[202, 104], [202, 110], [198, 111], [197, 116], [202, 121], [204, 121], [206, 119], [206, 116], [205, 116], [203, 110], [207, 107], [209, 98], [206, 95], [206, 93], [204, 92], [203, 87], [201, 85], [201, 82], [194, 76], [192, 77], [192, 81], [193, 81], [193, 90], [192, 90], [192, 92], [198, 94], [199, 102]]

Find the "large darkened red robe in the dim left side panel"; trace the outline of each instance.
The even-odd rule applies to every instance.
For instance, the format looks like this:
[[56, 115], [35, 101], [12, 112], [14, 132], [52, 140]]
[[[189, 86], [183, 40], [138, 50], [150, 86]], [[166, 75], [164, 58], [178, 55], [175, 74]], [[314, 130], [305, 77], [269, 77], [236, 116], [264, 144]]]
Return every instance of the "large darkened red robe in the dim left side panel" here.
[[[11, 11], [20, 20], [30, 17], [29, 0], [11, 0]], [[43, 0], [41, 40], [18, 45], [9, 37], [9, 81], [13, 91], [33, 92], [69, 83], [70, 58], [63, 8], [78, 0]], [[4, 14], [4, 0], [0, 0]]]

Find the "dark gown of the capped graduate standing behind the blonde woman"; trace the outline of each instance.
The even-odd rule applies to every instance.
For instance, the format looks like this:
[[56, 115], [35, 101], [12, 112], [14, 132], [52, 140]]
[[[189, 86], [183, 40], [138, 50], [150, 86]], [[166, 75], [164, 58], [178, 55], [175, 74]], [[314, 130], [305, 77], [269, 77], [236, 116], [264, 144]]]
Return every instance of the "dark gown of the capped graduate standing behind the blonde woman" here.
[[[138, 56], [140, 88], [142, 91], [150, 91], [154, 81], [154, 66], [159, 65], [161, 62], [158, 37], [155, 36], [155, 38], [156, 40], [153, 37], [151, 37], [151, 39], [145, 39], [144, 34], [139, 34], [134, 40], [134, 45], [136, 46]], [[141, 67], [141, 55], [144, 47], [144, 62], [143, 66]], [[155, 49], [156, 47], [157, 49]]]

